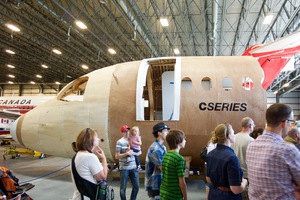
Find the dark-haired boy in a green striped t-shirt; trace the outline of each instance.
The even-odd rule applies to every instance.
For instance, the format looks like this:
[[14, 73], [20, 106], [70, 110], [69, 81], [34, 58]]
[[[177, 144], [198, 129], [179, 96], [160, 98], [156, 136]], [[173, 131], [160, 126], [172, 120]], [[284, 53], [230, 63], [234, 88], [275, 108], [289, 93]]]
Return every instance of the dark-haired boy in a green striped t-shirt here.
[[170, 150], [162, 161], [162, 183], [160, 186], [161, 200], [187, 199], [187, 189], [184, 179], [184, 158], [179, 154], [186, 140], [183, 131], [173, 129], [166, 137]]

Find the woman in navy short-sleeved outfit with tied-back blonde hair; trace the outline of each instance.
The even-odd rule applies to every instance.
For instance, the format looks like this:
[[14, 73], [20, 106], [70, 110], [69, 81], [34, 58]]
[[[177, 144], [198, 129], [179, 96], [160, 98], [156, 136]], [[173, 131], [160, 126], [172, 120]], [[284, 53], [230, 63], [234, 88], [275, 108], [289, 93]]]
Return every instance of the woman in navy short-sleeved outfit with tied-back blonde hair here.
[[232, 126], [229, 123], [219, 124], [211, 140], [217, 147], [206, 158], [206, 181], [211, 184], [208, 199], [241, 200], [241, 192], [248, 181], [243, 178], [239, 160], [230, 148], [235, 140]]

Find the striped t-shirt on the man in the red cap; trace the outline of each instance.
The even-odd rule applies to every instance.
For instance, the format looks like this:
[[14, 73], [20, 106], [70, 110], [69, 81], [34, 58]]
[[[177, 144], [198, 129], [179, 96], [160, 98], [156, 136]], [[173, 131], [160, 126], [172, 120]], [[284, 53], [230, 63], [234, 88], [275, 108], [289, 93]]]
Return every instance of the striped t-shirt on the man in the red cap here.
[[[117, 145], [116, 145], [116, 152], [123, 154], [126, 152], [126, 150], [129, 147], [129, 143], [128, 140], [126, 140], [125, 138], [121, 138], [117, 141]], [[126, 156], [123, 158], [119, 159], [119, 169], [120, 170], [131, 170], [131, 169], [135, 169], [136, 168], [136, 164], [135, 164], [135, 158], [133, 155], [131, 156]]]

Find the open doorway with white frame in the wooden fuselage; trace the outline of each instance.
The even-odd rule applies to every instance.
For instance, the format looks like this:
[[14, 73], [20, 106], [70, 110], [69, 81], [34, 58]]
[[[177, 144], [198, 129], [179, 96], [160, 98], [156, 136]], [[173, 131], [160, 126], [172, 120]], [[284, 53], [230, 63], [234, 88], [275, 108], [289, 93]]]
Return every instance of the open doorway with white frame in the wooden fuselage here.
[[142, 62], [137, 81], [137, 120], [178, 120], [180, 83], [177, 59]]

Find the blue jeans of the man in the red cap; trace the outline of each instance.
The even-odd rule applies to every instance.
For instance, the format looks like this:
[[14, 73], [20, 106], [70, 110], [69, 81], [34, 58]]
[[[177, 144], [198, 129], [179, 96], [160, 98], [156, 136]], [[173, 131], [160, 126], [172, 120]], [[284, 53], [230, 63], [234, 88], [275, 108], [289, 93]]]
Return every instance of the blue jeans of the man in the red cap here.
[[130, 200], [136, 200], [140, 188], [139, 173], [136, 169], [120, 170], [120, 197], [121, 200], [126, 200], [127, 180], [130, 178], [132, 191]]

